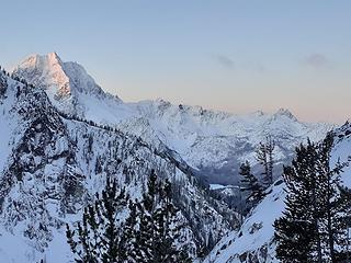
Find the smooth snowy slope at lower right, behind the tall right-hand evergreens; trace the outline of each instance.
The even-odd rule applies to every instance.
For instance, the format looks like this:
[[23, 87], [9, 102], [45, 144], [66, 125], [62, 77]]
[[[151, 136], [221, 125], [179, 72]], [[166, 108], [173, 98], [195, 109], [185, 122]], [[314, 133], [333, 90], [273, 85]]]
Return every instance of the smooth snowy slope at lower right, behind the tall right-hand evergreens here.
[[[351, 156], [351, 125], [335, 130], [331, 165], [338, 160], [348, 161]], [[343, 185], [351, 187], [351, 167], [342, 173]], [[278, 180], [272, 192], [251, 211], [238, 231], [226, 235], [206, 258], [204, 263], [279, 262], [275, 256], [273, 222], [282, 216], [286, 192], [285, 184]]]

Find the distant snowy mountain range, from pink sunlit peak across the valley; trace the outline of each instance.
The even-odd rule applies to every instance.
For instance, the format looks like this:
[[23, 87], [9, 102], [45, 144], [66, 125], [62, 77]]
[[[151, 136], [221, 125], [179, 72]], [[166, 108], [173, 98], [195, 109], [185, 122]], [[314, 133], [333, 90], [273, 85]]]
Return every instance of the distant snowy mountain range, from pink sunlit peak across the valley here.
[[287, 110], [234, 115], [163, 100], [123, 103], [103, 92], [81, 66], [63, 62], [55, 53], [29, 57], [14, 73], [45, 88], [53, 104], [64, 113], [114, 125], [151, 145], [163, 142], [211, 183], [235, 184], [239, 163], [256, 163], [254, 149], [267, 135], [276, 141], [274, 153], [280, 168], [291, 159], [297, 144], [307, 137], [319, 140], [332, 128], [329, 124], [298, 122]]

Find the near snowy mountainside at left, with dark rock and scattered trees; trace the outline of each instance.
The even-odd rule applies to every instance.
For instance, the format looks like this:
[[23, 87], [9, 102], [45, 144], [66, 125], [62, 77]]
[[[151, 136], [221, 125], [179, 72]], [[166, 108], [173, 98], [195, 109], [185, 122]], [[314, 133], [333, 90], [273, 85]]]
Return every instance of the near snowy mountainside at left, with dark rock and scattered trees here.
[[192, 254], [235, 227], [236, 214], [165, 145], [65, 116], [43, 89], [0, 72], [0, 262], [69, 262], [65, 224], [81, 218], [107, 175], [140, 197], [151, 169], [173, 184], [188, 229], [179, 242]]

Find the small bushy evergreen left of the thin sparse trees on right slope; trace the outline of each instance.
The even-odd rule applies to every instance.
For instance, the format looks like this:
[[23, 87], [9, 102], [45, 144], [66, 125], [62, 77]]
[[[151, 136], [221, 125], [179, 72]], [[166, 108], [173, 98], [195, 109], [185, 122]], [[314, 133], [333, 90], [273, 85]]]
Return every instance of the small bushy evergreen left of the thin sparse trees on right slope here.
[[253, 205], [260, 202], [264, 197], [263, 187], [251, 173], [251, 165], [248, 161], [241, 163], [239, 174], [241, 175], [240, 191], [247, 193], [247, 202]]

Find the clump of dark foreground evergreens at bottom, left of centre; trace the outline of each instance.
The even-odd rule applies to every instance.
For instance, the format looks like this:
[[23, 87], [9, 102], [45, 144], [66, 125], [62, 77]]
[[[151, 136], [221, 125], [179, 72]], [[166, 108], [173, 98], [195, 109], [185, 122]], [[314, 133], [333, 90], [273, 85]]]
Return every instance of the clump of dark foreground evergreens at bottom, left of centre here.
[[[190, 263], [178, 239], [185, 226], [172, 203], [172, 185], [149, 175], [147, 192], [132, 199], [109, 179], [94, 204], [84, 208], [76, 227], [67, 225], [67, 241], [78, 263]], [[124, 219], [125, 214], [128, 216]]]

